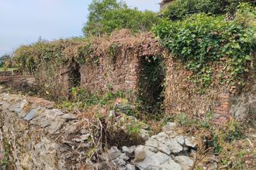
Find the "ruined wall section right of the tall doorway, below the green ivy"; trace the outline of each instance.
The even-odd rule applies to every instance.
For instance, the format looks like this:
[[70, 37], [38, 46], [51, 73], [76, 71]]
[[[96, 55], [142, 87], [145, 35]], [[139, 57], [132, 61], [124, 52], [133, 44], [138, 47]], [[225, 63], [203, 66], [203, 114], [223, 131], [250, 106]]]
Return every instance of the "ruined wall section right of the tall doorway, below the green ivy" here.
[[[255, 112], [256, 75], [251, 70], [242, 89], [226, 85], [213, 87], [197, 87], [188, 81], [192, 72], [181, 62], [164, 53], [166, 58], [166, 82], [164, 94], [164, 108], [167, 114], [185, 113], [191, 116], [202, 117], [206, 112], [214, 114], [213, 122], [223, 124], [230, 117], [244, 118]], [[214, 68], [213, 68], [214, 69]], [[218, 70], [215, 70], [216, 76]]]

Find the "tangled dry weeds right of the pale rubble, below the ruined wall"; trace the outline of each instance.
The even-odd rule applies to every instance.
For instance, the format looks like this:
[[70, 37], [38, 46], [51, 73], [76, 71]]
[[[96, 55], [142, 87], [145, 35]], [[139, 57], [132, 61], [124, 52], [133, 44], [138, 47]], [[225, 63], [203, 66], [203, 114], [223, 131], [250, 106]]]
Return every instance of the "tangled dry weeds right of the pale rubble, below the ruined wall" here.
[[200, 119], [181, 113], [173, 117], [164, 117], [162, 124], [175, 121], [180, 127], [177, 131], [182, 131], [183, 134], [195, 134], [199, 142], [195, 169], [202, 169], [200, 163], [207, 164], [212, 160], [212, 153], [218, 156], [220, 169], [247, 169], [245, 162], [251, 160], [251, 155], [254, 155], [255, 151], [251, 150], [251, 141], [248, 142], [246, 129], [254, 123], [247, 121], [243, 124], [231, 120], [220, 127], [211, 124], [212, 117], [211, 112]]

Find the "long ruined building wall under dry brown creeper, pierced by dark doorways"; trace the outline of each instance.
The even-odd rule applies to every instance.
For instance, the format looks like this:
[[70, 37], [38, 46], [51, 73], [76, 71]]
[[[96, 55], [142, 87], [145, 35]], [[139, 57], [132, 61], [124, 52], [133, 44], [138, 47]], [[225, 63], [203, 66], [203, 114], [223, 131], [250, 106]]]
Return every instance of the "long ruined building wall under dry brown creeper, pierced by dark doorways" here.
[[[43, 50], [38, 46], [43, 46]], [[38, 63], [34, 72], [37, 87], [51, 96], [68, 97], [71, 87], [82, 87], [92, 93], [108, 90], [133, 90], [137, 96], [138, 92], [154, 93], [147, 86], [150, 80], [141, 77], [141, 73], [144, 58], [156, 56], [164, 60], [166, 67], [163, 83], [166, 114], [182, 112], [200, 117], [211, 111], [218, 115], [216, 121], [227, 121], [230, 116], [243, 117], [241, 115], [254, 111], [255, 72], [246, 79], [250, 88], [238, 90], [218, 82], [209, 87], [197, 87], [193, 83], [195, 74], [163, 49], [150, 33], [133, 35], [123, 29], [90, 42], [47, 42], [34, 48], [29, 55], [35, 53], [37, 57], [34, 59]], [[220, 64], [215, 65], [213, 81], [218, 80], [216, 76], [223, 70]]]

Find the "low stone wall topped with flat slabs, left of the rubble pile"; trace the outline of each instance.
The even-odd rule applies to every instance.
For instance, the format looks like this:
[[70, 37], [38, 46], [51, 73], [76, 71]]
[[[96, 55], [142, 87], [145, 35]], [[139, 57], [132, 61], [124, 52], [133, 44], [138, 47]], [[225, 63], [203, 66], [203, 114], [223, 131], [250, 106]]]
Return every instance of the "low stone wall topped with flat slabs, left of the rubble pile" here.
[[[90, 134], [50, 101], [0, 92], [0, 158], [7, 169], [81, 168]], [[84, 136], [83, 136], [84, 135]], [[9, 148], [6, 148], [9, 146]], [[5, 167], [6, 168], [6, 167]]]

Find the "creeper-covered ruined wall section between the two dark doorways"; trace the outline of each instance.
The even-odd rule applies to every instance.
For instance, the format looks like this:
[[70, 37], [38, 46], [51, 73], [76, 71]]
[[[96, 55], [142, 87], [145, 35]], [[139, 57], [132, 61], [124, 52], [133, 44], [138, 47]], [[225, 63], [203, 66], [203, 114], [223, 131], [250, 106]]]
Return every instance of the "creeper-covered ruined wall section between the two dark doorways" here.
[[81, 87], [92, 91], [137, 90], [140, 57], [161, 56], [163, 50], [150, 34], [133, 36], [129, 32], [98, 39], [94, 46], [98, 62], [84, 63], [80, 71]]

